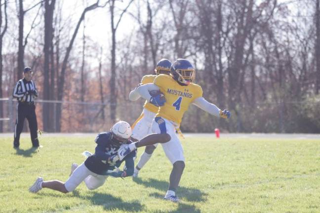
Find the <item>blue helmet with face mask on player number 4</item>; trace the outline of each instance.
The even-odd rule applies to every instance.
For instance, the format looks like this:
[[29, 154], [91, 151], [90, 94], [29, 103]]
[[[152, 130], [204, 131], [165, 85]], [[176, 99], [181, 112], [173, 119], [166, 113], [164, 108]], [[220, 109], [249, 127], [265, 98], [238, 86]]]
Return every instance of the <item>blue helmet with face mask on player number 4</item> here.
[[195, 69], [187, 59], [177, 59], [170, 68], [170, 74], [179, 84], [189, 85], [195, 79]]

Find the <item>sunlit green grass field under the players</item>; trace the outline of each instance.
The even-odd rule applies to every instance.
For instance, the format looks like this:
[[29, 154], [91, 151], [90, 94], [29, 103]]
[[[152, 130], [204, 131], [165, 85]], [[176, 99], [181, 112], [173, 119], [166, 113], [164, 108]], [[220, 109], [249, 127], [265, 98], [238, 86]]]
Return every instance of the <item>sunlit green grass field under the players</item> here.
[[65, 181], [71, 163], [94, 151], [94, 137], [42, 137], [39, 150], [30, 148], [29, 137], [14, 150], [12, 138], [0, 138], [0, 213], [320, 212], [320, 140], [185, 139], [176, 204], [162, 199], [171, 165], [160, 146], [137, 179], [108, 178], [93, 191], [81, 183], [68, 194], [32, 194], [28, 188], [38, 176]]

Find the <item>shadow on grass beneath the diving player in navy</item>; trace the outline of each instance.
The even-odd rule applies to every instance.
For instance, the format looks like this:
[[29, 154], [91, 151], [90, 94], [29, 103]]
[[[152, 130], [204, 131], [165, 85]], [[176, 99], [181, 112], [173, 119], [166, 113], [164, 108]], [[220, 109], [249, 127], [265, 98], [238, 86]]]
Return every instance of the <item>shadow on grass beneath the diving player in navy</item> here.
[[100, 192], [90, 192], [90, 195], [78, 197], [89, 200], [92, 205], [103, 206], [105, 210], [116, 210], [126, 211], [126, 212], [140, 212], [143, 210], [143, 205], [140, 204], [138, 200], [133, 202], [124, 202], [121, 198], [114, 197], [110, 194], [100, 193]]

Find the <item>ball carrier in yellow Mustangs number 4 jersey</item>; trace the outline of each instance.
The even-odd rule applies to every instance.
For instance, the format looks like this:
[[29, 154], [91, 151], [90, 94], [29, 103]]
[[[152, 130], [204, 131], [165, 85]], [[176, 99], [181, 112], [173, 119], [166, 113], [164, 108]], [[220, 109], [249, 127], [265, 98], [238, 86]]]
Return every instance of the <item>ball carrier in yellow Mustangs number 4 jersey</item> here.
[[[164, 94], [166, 102], [163, 106], [160, 106], [151, 129], [152, 133], [167, 133], [171, 137], [169, 142], [162, 143], [162, 148], [173, 165], [169, 178], [169, 187], [164, 199], [173, 202], [179, 202], [175, 191], [185, 167], [183, 148], [176, 136], [175, 129], [180, 126], [185, 111], [187, 111], [190, 104], [194, 104], [217, 117], [230, 117], [228, 110], [221, 110], [202, 97], [202, 88], [193, 83], [194, 78], [195, 70], [192, 64], [186, 59], [178, 59], [171, 65], [170, 75], [160, 74], [153, 83], [141, 85], [135, 91], [146, 100], [152, 98], [149, 93], [152, 90], [160, 90]], [[138, 98], [138, 96], [135, 96], [135, 100]]]

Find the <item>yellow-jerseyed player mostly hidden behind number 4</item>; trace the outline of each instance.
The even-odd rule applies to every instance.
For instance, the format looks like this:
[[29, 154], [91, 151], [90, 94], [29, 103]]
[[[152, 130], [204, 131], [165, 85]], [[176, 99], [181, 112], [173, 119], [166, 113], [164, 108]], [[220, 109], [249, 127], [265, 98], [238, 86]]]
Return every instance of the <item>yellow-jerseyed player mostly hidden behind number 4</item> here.
[[[170, 67], [171, 67], [171, 62], [168, 59], [161, 59], [155, 68], [155, 75], [145, 75], [141, 79], [142, 84], [147, 84], [147, 83], [153, 83], [154, 79], [157, 77], [159, 74], [170, 74]], [[139, 86], [138, 85], [138, 86]], [[134, 94], [134, 91], [131, 91], [130, 94]], [[131, 95], [129, 95], [129, 99], [132, 98]], [[140, 140], [143, 137], [151, 134], [151, 124], [153, 119], [155, 118], [155, 115], [158, 113], [159, 106], [155, 106], [148, 101], [145, 102], [143, 106], [143, 111], [140, 115], [140, 117], [133, 123], [132, 125], [132, 136], [131, 138], [134, 138], [136, 140]], [[139, 170], [148, 162], [150, 159], [152, 153], [154, 152], [155, 148], [157, 147], [158, 143], [150, 146], [146, 146], [145, 151], [142, 153], [140, 156], [139, 162], [134, 168], [134, 173], [133, 176], [134, 178], [138, 177]]]

